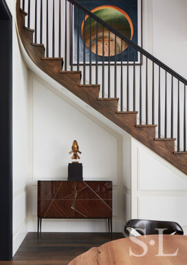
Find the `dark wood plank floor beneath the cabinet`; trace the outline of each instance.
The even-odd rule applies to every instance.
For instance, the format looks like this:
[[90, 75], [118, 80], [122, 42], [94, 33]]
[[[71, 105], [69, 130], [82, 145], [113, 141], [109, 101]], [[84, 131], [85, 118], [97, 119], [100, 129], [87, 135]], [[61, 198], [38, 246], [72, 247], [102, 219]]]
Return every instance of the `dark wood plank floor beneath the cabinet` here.
[[[122, 238], [113, 233], [113, 239]], [[108, 233], [28, 233], [12, 262], [4, 265], [67, 265], [74, 257], [111, 240]]]

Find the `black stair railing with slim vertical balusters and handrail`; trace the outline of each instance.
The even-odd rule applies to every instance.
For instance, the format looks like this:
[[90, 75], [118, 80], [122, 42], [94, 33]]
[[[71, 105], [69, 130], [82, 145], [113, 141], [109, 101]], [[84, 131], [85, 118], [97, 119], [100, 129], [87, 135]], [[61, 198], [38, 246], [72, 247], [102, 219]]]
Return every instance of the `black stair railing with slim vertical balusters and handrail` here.
[[186, 151], [184, 77], [75, 0], [21, 0], [21, 8], [46, 57], [63, 56], [65, 71], [82, 71], [83, 84], [100, 84], [100, 97], [120, 98], [121, 112], [137, 111], [137, 123], [157, 124], [157, 138], [177, 138]]

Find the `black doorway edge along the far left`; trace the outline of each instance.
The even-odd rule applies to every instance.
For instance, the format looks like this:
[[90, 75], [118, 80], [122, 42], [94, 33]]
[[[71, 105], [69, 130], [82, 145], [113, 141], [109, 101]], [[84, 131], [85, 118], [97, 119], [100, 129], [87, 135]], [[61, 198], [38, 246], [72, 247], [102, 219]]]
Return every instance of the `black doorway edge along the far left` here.
[[0, 0], [0, 260], [12, 259], [12, 14]]

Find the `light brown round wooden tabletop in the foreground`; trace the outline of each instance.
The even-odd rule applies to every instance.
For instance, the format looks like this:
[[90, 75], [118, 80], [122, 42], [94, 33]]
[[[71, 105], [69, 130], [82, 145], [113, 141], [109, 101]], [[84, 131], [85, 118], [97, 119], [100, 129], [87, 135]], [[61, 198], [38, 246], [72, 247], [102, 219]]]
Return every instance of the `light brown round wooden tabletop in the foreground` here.
[[[72, 260], [69, 265], [184, 265], [187, 263], [187, 236], [164, 235], [164, 254], [175, 253], [179, 248], [176, 257], [157, 256], [159, 253], [158, 235], [141, 236], [136, 239], [148, 247], [146, 255], [142, 257], [134, 255], [130, 257], [130, 248], [136, 255], [141, 255], [143, 248], [128, 237], [108, 242], [98, 248], [91, 248]], [[151, 240], [155, 242], [154, 246], [151, 246]]]

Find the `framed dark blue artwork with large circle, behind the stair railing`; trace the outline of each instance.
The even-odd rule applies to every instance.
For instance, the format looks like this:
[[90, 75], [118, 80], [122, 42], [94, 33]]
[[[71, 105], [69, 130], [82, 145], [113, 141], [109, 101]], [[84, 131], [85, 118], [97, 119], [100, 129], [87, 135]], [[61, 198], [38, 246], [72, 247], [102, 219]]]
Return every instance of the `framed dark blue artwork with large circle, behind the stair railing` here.
[[[121, 34], [131, 39], [142, 47], [142, 0], [77, 0], [82, 6], [93, 12], [100, 19], [118, 30]], [[83, 64], [83, 51], [85, 45], [85, 61], [89, 64], [91, 49], [91, 61], [96, 63], [96, 42], [98, 43], [98, 64], [102, 63], [103, 37], [102, 25], [98, 23], [98, 37], [96, 37], [96, 21], [85, 16], [83, 12], [74, 6], [73, 10], [73, 63], [77, 63], [77, 41], [79, 38], [79, 60]], [[91, 25], [91, 26], [90, 26]], [[91, 32], [91, 37], [90, 37]], [[84, 43], [85, 36], [85, 43]], [[97, 41], [96, 41], [97, 40]], [[109, 41], [110, 40], [110, 41]], [[116, 60], [123, 64], [127, 61], [128, 45], [118, 36], [116, 37]], [[110, 52], [109, 52], [110, 50]], [[115, 34], [109, 33], [104, 28], [104, 61], [107, 63], [110, 53], [111, 64], [115, 62]], [[142, 56], [135, 51], [135, 63], [142, 63]], [[129, 46], [129, 63], [134, 61], [134, 49]]]

